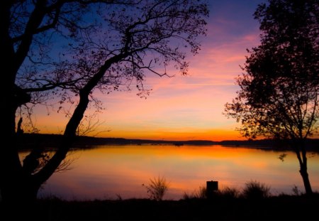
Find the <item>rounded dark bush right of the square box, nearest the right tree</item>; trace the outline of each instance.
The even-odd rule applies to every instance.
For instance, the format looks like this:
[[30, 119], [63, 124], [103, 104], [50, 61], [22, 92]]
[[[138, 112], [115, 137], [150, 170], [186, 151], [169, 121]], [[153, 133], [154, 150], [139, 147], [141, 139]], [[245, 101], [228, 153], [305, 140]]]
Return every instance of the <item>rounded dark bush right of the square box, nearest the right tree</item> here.
[[250, 180], [245, 183], [245, 188], [242, 195], [247, 199], [262, 199], [270, 196], [270, 188], [264, 183], [259, 183], [255, 180]]

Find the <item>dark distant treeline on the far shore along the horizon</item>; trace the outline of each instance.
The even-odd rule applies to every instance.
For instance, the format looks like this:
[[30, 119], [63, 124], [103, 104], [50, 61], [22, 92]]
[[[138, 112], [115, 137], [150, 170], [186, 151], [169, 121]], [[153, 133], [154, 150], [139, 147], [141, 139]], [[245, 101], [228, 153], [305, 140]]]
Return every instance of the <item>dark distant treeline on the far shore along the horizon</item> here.
[[[18, 139], [20, 149], [33, 149], [37, 146], [46, 148], [56, 148], [62, 135], [60, 134], [21, 134]], [[208, 141], [208, 140], [191, 140], [191, 141], [164, 141], [150, 139], [124, 139], [124, 138], [101, 138], [92, 136], [77, 136], [74, 142], [74, 148], [91, 148], [96, 145], [142, 145], [142, 144], [170, 144], [176, 146], [182, 145], [223, 145], [233, 147], [251, 147], [262, 149], [286, 150], [289, 149], [288, 142], [284, 140], [259, 139], [259, 140], [229, 140], [229, 141]], [[308, 139], [306, 142], [307, 149], [310, 151], [319, 151], [319, 139]]]

